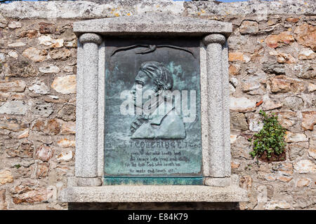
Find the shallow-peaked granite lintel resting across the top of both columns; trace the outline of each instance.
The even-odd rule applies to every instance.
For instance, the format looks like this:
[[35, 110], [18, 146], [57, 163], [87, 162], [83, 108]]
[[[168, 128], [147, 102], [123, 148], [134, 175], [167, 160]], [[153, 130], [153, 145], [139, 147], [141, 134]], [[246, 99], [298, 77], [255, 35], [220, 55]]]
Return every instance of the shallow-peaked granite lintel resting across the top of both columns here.
[[204, 36], [232, 33], [230, 22], [181, 17], [165, 13], [147, 13], [74, 22], [74, 33], [103, 36]]

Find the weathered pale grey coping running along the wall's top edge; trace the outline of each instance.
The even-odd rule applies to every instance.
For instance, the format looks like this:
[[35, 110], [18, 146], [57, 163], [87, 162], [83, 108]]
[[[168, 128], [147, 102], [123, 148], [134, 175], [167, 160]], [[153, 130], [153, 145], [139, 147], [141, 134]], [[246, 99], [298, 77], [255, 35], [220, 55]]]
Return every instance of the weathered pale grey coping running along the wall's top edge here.
[[[294, 5], [295, 3], [295, 5]], [[186, 7], [184, 7], [184, 4]], [[115, 1], [115, 6], [113, 10], [102, 10], [103, 8], [109, 8], [106, 1], [82, 1], [80, 3], [80, 8], [78, 9], [78, 4], [72, 1], [62, 1], [55, 3], [54, 1], [45, 1], [43, 3], [37, 4], [27, 4], [27, 2], [13, 2], [11, 4], [13, 7], [1, 6], [2, 14], [6, 17], [14, 17], [18, 19], [23, 18], [77, 18], [77, 19], [91, 19], [91, 18], [105, 18], [116, 15], [131, 15], [138, 13], [145, 13], [148, 11], [162, 11], [166, 13], [175, 13], [176, 15], [182, 15], [183, 11], [186, 9], [188, 15], [195, 15], [199, 12], [199, 15], [204, 16], [214, 16], [214, 15], [242, 15], [243, 18], [238, 18], [235, 24], [240, 25], [244, 16], [246, 15], [256, 15], [260, 19], [267, 19], [263, 10], [268, 10], [267, 14], [271, 15], [284, 14], [286, 12], [288, 15], [313, 15], [315, 8], [313, 7], [312, 0], [306, 1], [258, 1], [254, 2], [232, 2], [232, 3], [218, 3], [215, 1], [159, 1], [159, 0], [146, 0], [137, 1], [137, 3], [126, 3], [126, 1]], [[159, 6], [159, 7], [157, 7]], [[28, 10], [24, 10], [27, 8]], [[54, 8], [53, 13], [48, 13]], [[84, 10], [89, 8], [89, 10]], [[204, 10], [202, 11], [202, 9]], [[91, 13], [93, 12], [93, 13]], [[116, 14], [117, 13], [117, 14]], [[114, 15], [113, 15], [114, 14]], [[115, 15], [116, 14], [116, 15]], [[263, 15], [265, 14], [265, 15]], [[268, 16], [268, 15], [267, 15]]]

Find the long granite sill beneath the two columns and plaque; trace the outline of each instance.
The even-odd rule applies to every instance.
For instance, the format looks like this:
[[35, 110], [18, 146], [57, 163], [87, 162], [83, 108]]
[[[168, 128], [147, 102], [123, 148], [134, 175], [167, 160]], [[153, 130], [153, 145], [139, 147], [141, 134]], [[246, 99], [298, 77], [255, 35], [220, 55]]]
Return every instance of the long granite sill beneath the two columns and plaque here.
[[60, 202], [247, 202], [238, 186], [98, 186], [70, 187]]

